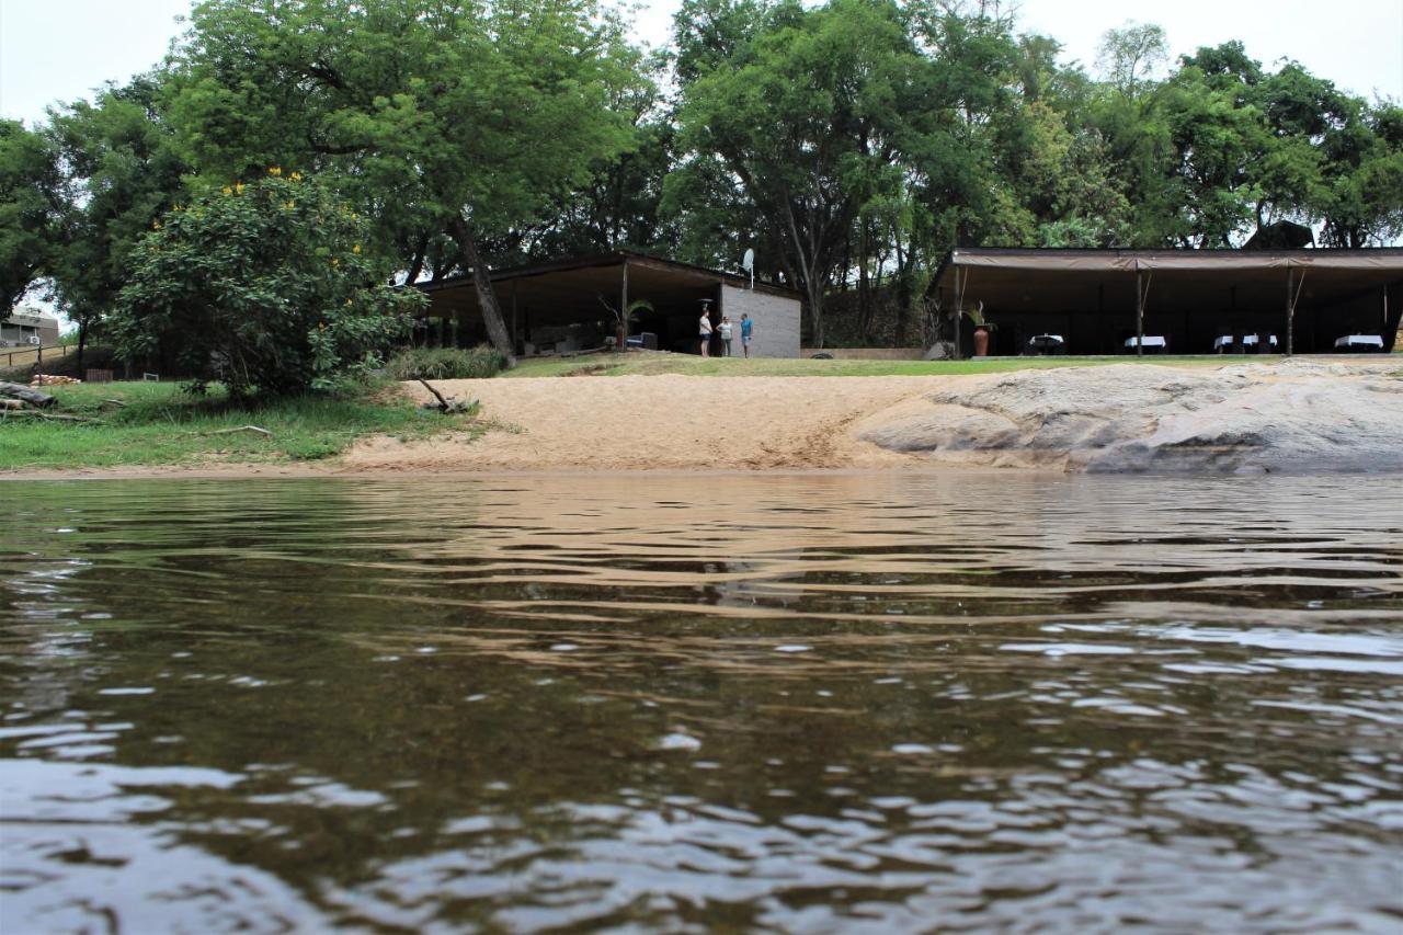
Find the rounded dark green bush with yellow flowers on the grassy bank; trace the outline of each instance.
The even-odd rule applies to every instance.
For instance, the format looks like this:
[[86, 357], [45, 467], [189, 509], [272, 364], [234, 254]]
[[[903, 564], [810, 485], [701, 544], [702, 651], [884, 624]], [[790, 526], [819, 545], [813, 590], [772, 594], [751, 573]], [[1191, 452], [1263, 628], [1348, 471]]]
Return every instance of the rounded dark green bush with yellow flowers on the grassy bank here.
[[331, 187], [272, 168], [173, 208], [132, 253], [109, 330], [230, 394], [327, 389], [408, 334], [422, 292], [386, 285], [366, 220]]

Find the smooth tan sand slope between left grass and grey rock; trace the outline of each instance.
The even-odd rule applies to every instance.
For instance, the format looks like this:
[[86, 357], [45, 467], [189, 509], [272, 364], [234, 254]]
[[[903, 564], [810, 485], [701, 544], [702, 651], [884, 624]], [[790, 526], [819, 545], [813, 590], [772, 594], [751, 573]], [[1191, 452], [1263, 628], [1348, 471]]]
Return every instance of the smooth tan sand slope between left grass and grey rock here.
[[[349, 469], [668, 470], [867, 468], [912, 463], [849, 425], [940, 389], [929, 376], [574, 376], [436, 380], [477, 399], [495, 427], [476, 439], [373, 439]], [[410, 386], [427, 400], [421, 386]]]

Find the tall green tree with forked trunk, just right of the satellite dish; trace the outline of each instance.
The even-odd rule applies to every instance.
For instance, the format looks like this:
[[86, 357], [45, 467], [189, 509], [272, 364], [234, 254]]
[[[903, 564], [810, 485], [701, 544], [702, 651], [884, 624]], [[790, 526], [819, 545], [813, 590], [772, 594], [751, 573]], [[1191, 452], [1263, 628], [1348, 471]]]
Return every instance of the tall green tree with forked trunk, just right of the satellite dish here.
[[706, 22], [724, 31], [699, 41], [679, 29], [679, 76], [694, 74], [682, 87], [680, 147], [703, 168], [718, 160], [777, 226], [822, 347], [824, 296], [852, 226], [899, 190], [901, 139], [909, 118], [929, 114], [916, 74], [925, 60], [885, 0], [706, 6]]

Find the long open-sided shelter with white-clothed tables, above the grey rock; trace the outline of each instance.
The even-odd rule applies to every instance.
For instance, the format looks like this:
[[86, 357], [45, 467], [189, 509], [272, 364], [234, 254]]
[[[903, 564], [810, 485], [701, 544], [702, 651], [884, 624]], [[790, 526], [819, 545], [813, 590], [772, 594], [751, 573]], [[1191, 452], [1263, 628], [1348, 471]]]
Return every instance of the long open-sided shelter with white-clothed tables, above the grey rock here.
[[[946, 312], [982, 309], [995, 324], [991, 354], [1023, 354], [1045, 336], [1069, 354], [1244, 345], [1326, 354], [1351, 337], [1369, 338], [1355, 347], [1392, 351], [1403, 250], [958, 248], [933, 292]], [[968, 348], [968, 320], [960, 331]]]

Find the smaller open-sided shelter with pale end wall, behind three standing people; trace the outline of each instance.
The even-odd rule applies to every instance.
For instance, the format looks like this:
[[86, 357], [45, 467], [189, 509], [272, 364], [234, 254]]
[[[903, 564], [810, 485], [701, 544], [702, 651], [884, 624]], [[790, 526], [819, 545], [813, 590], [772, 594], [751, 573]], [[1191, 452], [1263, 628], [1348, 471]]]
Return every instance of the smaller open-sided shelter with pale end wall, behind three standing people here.
[[[487, 340], [471, 278], [422, 284], [431, 306], [424, 319], [431, 343], [469, 347]], [[602, 345], [615, 334], [615, 310], [645, 299], [630, 326], [640, 344], [664, 351], [700, 352], [699, 319], [713, 324], [730, 316], [734, 352], [741, 354], [741, 316], [755, 321], [752, 357], [798, 357], [798, 293], [746, 277], [640, 253], [577, 257], [501, 270], [492, 292], [523, 357]], [[718, 347], [711, 348], [720, 352]]]

